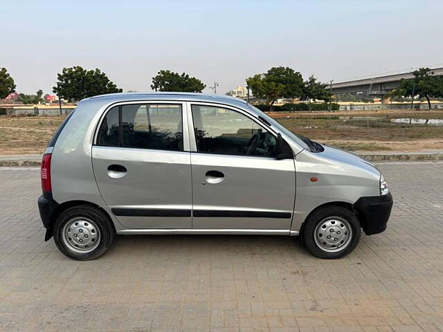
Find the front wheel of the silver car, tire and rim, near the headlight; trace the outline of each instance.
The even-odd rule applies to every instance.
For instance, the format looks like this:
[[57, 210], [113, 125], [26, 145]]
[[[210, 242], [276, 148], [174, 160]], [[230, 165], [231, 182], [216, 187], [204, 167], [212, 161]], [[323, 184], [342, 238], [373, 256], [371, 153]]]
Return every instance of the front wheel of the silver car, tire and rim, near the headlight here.
[[359, 244], [361, 226], [347, 208], [325, 206], [309, 216], [302, 236], [307, 250], [316, 257], [340, 258]]

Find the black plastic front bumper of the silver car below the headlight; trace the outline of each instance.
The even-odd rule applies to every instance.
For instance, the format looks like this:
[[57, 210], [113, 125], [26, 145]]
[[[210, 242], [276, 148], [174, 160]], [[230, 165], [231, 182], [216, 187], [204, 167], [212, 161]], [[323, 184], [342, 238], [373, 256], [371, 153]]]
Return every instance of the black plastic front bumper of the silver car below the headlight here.
[[354, 207], [365, 234], [372, 235], [386, 230], [393, 203], [390, 192], [383, 196], [360, 197], [355, 202]]

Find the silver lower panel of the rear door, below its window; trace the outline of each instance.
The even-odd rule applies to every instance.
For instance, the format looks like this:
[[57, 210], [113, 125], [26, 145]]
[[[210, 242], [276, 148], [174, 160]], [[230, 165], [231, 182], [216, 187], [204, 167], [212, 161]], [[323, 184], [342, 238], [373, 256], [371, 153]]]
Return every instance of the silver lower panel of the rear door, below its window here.
[[[111, 209], [191, 210], [190, 152], [92, 148], [94, 174], [103, 199]], [[123, 165], [121, 178], [107, 167]], [[192, 228], [189, 216], [116, 216], [126, 228]]]

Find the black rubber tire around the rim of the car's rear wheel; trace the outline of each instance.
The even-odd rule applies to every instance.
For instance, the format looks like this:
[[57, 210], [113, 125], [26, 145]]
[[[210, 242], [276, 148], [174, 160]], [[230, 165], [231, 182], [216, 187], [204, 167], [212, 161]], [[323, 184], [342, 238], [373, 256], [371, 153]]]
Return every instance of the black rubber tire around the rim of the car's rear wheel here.
[[[94, 226], [99, 230], [99, 232], [97, 232], [98, 244], [94, 243], [93, 246], [95, 246], [95, 248], [90, 252], [76, 252], [75, 248], [70, 248], [70, 246], [65, 243], [67, 240], [64, 240], [64, 227], [77, 218], [92, 221], [95, 224]], [[82, 232], [84, 231], [82, 230]], [[95, 229], [93, 232], [96, 233]], [[91, 205], [77, 205], [67, 209], [58, 216], [53, 226], [53, 234], [55, 245], [64, 255], [78, 261], [89, 261], [100, 257], [106, 252], [114, 241], [115, 230], [109, 216], [99, 208]], [[84, 250], [88, 249], [84, 248]]]

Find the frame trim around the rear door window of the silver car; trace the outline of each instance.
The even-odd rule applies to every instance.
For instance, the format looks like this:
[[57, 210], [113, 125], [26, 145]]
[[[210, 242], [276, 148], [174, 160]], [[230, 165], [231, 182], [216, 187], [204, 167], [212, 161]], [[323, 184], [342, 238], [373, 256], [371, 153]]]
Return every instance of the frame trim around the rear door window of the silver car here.
[[[123, 142], [123, 116], [122, 116], [122, 109], [123, 106], [126, 105], [159, 105], [159, 104], [166, 104], [166, 105], [177, 105], [180, 106], [181, 108], [181, 133], [183, 134], [183, 150], [165, 150], [165, 149], [146, 149], [143, 147], [123, 147], [122, 146], [122, 142]], [[168, 151], [168, 152], [190, 152], [190, 151], [186, 151], [185, 147], [184, 147], [184, 142], [185, 142], [185, 137], [184, 137], [184, 129], [183, 129], [183, 116], [184, 116], [184, 112], [186, 111], [186, 108], [183, 107], [186, 106], [186, 101], [182, 101], [182, 100], [128, 100], [128, 101], [120, 101], [120, 102], [114, 102], [112, 104], [109, 104], [105, 111], [102, 112], [100, 119], [97, 122], [96, 128], [94, 130], [94, 135], [93, 135], [93, 142], [92, 142], [92, 146], [93, 147], [113, 147], [113, 148], [123, 148], [123, 149], [138, 149], [138, 150], [152, 150], [152, 151]], [[115, 145], [99, 145], [97, 143], [98, 140], [98, 134], [100, 131], [100, 127], [102, 127], [102, 122], [103, 120], [106, 118], [107, 114], [109, 113], [109, 111], [111, 111], [111, 109], [114, 109], [114, 107], [118, 107], [118, 146]]]

